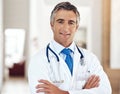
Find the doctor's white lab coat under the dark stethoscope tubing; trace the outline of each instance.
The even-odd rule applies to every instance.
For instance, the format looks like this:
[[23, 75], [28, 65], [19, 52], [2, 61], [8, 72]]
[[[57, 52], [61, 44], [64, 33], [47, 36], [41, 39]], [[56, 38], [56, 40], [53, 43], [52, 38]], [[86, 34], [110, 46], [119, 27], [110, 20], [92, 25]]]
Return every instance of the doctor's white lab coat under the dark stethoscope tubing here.
[[[50, 45], [50, 48], [54, 50], [52, 45]], [[108, 77], [96, 56], [85, 49], [80, 48], [80, 50], [82, 50], [84, 54], [85, 62], [81, 65], [80, 53], [76, 48], [73, 59], [73, 76], [71, 76], [67, 64], [59, 55], [60, 62], [57, 62], [55, 55], [49, 51], [51, 62], [48, 62], [46, 48], [33, 56], [28, 69], [28, 81], [32, 92], [31, 94], [38, 94], [36, 93], [35, 86], [40, 79], [50, 81], [60, 89], [68, 91], [69, 94], [112, 94]], [[86, 80], [92, 74], [100, 76], [99, 87], [82, 89]]]

